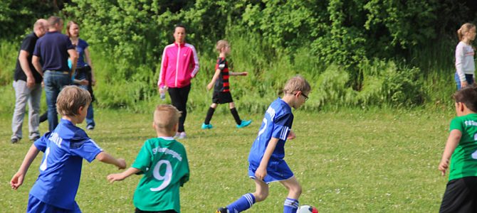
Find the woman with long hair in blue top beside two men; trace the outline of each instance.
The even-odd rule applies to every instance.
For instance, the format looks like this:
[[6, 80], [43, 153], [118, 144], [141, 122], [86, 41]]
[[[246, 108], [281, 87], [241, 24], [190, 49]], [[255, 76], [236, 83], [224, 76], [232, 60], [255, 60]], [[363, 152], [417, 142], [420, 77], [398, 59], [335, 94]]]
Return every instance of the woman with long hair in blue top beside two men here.
[[[93, 95], [93, 86], [96, 83], [95, 72], [93, 71], [93, 64], [91, 63], [90, 50], [88, 49], [88, 43], [80, 39], [80, 26], [74, 21], [69, 21], [66, 24], [66, 35], [70, 37], [71, 43], [76, 48], [78, 53], [78, 61], [76, 63], [75, 80], [87, 80], [88, 84], [78, 84], [79, 87], [88, 90], [91, 95], [91, 104], [88, 107], [88, 114], [86, 115], [86, 129], [95, 129], [95, 119], [93, 114], [93, 102], [95, 97]], [[86, 61], [86, 62], [85, 62]]]

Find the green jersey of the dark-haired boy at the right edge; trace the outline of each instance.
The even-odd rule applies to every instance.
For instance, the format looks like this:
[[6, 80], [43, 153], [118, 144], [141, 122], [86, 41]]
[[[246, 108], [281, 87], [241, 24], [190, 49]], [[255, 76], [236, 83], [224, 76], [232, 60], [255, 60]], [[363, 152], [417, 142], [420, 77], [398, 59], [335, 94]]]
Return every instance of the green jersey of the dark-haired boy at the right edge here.
[[451, 156], [449, 180], [477, 176], [477, 114], [458, 116], [451, 121], [450, 130], [461, 131], [461, 141]]

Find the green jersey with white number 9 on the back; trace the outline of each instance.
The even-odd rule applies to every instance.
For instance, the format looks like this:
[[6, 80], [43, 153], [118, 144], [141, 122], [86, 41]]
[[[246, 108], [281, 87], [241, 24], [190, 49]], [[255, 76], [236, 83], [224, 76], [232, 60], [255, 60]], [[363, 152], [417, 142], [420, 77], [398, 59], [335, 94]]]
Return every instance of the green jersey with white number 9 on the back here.
[[179, 187], [189, 180], [189, 163], [182, 143], [174, 138], [151, 138], [141, 148], [133, 168], [144, 173], [134, 193], [142, 211], [180, 212]]

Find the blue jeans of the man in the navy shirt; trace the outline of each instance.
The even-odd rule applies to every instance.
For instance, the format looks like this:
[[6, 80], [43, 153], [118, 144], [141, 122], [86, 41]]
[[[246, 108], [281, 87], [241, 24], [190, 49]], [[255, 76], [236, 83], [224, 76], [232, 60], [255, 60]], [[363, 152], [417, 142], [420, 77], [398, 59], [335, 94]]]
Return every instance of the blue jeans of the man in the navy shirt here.
[[56, 98], [58, 98], [61, 89], [71, 83], [70, 74], [68, 72], [46, 70], [43, 75], [43, 82], [45, 83], [46, 105], [48, 106], [48, 129], [53, 131], [58, 126]]

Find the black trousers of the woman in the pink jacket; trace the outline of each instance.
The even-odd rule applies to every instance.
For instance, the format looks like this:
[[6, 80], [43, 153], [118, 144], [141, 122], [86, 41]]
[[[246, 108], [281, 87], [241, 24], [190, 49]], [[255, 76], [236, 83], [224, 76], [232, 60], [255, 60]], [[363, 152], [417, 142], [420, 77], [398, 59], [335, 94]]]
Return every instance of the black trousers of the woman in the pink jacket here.
[[183, 132], [185, 131], [184, 122], [186, 121], [187, 116], [187, 98], [191, 91], [191, 84], [181, 88], [169, 88], [167, 91], [169, 91], [172, 106], [176, 107], [177, 110], [182, 111], [182, 116], [179, 118], [179, 129], [177, 131]]

